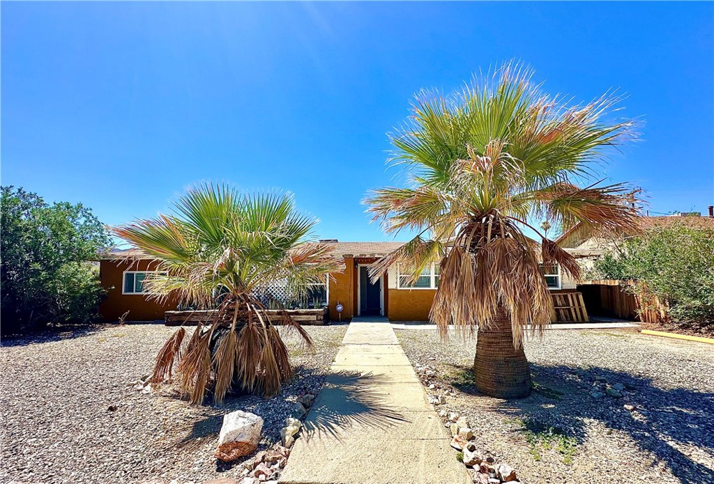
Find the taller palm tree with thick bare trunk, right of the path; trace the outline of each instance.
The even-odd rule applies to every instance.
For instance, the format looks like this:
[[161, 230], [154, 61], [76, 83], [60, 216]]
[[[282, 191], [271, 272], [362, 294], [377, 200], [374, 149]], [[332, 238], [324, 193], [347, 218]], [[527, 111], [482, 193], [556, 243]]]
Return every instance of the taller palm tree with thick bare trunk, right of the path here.
[[575, 259], [530, 221], [635, 226], [629, 187], [594, 179], [603, 148], [631, 132], [630, 121], [604, 120], [618, 99], [568, 106], [542, 93], [532, 75], [510, 63], [454, 96], [420, 93], [406, 125], [390, 135], [391, 162], [406, 168], [412, 186], [366, 199], [386, 232], [418, 232], [373, 264], [372, 277], [398, 263], [416, 279], [441, 261], [430, 318], [445, 338], [450, 324], [462, 336], [478, 328], [476, 386], [501, 398], [531, 392], [523, 334], [542, 335], [553, 307], [540, 264], [580, 274]]

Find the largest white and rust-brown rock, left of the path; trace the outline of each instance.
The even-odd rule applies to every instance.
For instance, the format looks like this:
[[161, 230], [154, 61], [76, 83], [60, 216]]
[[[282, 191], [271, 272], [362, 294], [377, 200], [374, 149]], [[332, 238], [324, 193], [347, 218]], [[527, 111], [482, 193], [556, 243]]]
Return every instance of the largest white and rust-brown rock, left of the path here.
[[236, 410], [223, 416], [216, 458], [226, 462], [253, 453], [261, 440], [263, 419], [255, 413]]

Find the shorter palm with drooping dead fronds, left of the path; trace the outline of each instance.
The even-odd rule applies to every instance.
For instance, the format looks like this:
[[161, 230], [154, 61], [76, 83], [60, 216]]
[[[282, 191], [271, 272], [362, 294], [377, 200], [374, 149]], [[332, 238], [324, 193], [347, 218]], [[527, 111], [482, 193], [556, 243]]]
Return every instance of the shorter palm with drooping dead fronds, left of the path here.
[[307, 242], [316, 220], [296, 213], [287, 195], [240, 195], [226, 186], [201, 185], [174, 203], [171, 215], [117, 227], [114, 234], [155, 257], [147, 292], [216, 308], [208, 324], [186, 338], [183, 326], [156, 358], [152, 381], [171, 380], [201, 403], [208, 390], [221, 401], [229, 389], [272, 396], [292, 376], [288, 350], [276, 324], [309, 335], [283, 311], [268, 314], [253, 295], [279, 282], [299, 296], [341, 270], [326, 244]]

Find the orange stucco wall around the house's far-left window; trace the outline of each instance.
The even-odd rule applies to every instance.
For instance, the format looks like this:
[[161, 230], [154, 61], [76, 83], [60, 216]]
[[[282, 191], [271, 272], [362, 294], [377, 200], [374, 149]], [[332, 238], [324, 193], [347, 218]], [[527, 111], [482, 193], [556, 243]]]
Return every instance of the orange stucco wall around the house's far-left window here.
[[99, 306], [99, 314], [106, 321], [116, 321], [119, 316], [129, 311], [126, 321], [155, 321], [164, 319], [164, 311], [176, 309], [176, 302], [159, 304], [149, 300], [146, 294], [121, 294], [124, 271], [150, 271], [154, 269], [155, 265], [148, 260], [138, 262], [101, 261], [99, 277], [107, 294], [106, 299]]

